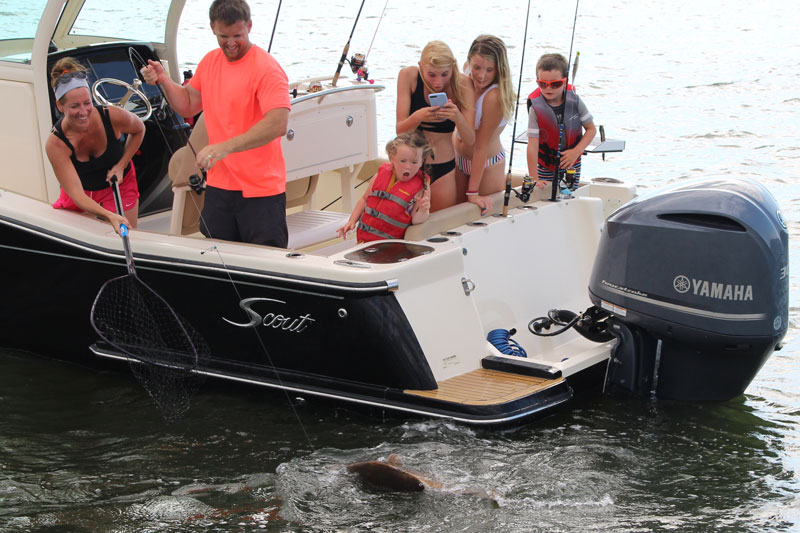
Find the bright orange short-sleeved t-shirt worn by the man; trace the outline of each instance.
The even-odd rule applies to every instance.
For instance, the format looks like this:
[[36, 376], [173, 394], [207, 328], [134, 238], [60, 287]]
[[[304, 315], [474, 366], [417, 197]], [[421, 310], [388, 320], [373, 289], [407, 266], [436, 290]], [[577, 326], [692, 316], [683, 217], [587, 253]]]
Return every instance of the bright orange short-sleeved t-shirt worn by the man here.
[[[200, 91], [209, 144], [241, 135], [276, 108], [291, 109], [289, 80], [270, 54], [256, 45], [238, 61], [212, 50], [197, 65], [189, 84]], [[229, 154], [208, 172], [208, 184], [242, 196], [274, 196], [286, 191], [281, 139]]]

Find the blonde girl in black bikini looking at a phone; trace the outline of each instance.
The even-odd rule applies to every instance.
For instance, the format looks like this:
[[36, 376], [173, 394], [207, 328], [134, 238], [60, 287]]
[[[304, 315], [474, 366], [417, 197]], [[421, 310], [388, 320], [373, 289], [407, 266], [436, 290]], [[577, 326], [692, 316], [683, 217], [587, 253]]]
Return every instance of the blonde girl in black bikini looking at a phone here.
[[[444, 105], [430, 103], [430, 96], [445, 93]], [[434, 96], [436, 103], [437, 96]], [[453, 131], [474, 142], [472, 82], [458, 71], [450, 47], [431, 41], [422, 50], [417, 66], [403, 68], [397, 76], [397, 133], [421, 131], [433, 149], [427, 166], [431, 178], [431, 211], [459, 201], [455, 181]]]

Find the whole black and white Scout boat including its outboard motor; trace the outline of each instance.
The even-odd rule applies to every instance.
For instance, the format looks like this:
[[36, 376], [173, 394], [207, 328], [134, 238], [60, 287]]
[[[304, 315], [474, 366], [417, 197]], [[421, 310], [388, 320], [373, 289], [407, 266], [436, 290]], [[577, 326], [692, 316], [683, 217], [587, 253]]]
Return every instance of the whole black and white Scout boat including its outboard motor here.
[[[104, 222], [50, 205], [58, 182], [44, 142], [57, 111], [47, 73], [73, 56], [89, 66], [91, 82], [133, 83], [132, 58], [141, 56], [160, 58], [177, 80], [183, 1], [163, 10], [160, 42], [94, 37], [108, 29], [86, 31], [92, 17], [83, 8], [81, 0], [50, 0], [30, 38], [0, 35], [8, 104], [0, 125], [0, 345], [125, 359], [89, 322], [98, 290], [125, 272], [120, 239]], [[155, 87], [139, 88], [147, 105], [136, 97], [126, 104], [153, 110], [134, 158], [142, 194], [130, 235], [136, 268], [204, 337], [209, 355], [194, 372], [495, 425], [528, 420], [581, 391], [729, 399], [779, 347], [788, 233], [774, 199], [753, 182], [691, 182], [636, 198], [632, 185], [595, 180], [558, 201], [549, 191], [526, 202], [515, 195], [507, 216], [499, 215], [502, 194], [484, 217], [457, 205], [409, 228], [405, 240], [337, 239], [355, 184], [380, 163], [381, 87], [328, 81], [292, 85], [283, 139], [288, 250], [200, 236], [201, 196], [188, 184], [193, 158], [180, 148], [189, 127]], [[321, 90], [311, 92], [317, 82]], [[126, 90], [105, 82], [95, 93], [114, 103]], [[202, 120], [191, 135], [199, 149]], [[313, 209], [339, 194], [338, 211]], [[534, 278], [542, 265], [557, 277]], [[575, 312], [559, 311], [567, 309]], [[527, 357], [507, 341], [510, 331]]]

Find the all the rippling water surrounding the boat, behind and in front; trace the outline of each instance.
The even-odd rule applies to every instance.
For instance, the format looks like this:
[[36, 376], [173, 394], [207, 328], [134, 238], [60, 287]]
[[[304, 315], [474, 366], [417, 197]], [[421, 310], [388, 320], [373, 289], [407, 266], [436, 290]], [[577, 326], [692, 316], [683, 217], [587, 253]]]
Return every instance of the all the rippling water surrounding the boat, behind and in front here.
[[[273, 52], [290, 78], [333, 72], [359, 4], [284, 2]], [[369, 54], [371, 77], [387, 85], [379, 142], [394, 129], [397, 70], [432, 38], [464, 59], [475, 35], [495, 33], [516, 79], [526, 3], [496, 4], [390, 0]], [[532, 6], [526, 92], [538, 56], [570, 45], [575, 5], [543, 4]], [[252, 3], [253, 40], [264, 46], [276, 5]], [[351, 53], [366, 52], [383, 6], [366, 3]], [[214, 46], [206, 8], [187, 2], [187, 67]], [[704, 176], [757, 179], [789, 221], [796, 267], [798, 26], [798, 10], [778, 0], [582, 3], [578, 90], [595, 123], [628, 142], [605, 162], [586, 158], [586, 175], [644, 190]], [[519, 170], [524, 156], [514, 161]], [[740, 398], [598, 398], [504, 432], [290, 407], [281, 394], [228, 385], [207, 386], [167, 426], [125, 373], [0, 352], [0, 530], [797, 531], [799, 285], [793, 268], [786, 346]], [[385, 493], [343, 468], [389, 453], [448, 488]], [[499, 505], [462, 493], [471, 488]]]

